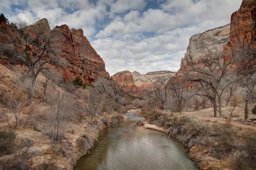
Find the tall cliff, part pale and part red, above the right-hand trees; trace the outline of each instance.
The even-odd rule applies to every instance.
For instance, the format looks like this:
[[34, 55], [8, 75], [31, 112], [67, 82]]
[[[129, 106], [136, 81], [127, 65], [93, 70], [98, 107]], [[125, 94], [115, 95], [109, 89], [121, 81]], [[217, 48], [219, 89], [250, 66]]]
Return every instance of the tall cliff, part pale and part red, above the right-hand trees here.
[[[177, 77], [183, 78], [185, 71], [190, 69], [186, 62], [188, 57], [192, 57], [197, 62], [206, 55], [207, 50], [217, 53], [217, 55], [223, 55], [225, 60], [233, 59], [236, 57], [235, 55], [242, 55], [246, 50], [255, 55], [255, 6], [256, 1], [243, 0], [240, 9], [232, 14], [231, 24], [192, 36], [185, 57], [181, 58]], [[240, 67], [239, 64], [233, 64], [229, 69], [237, 69], [238, 67]]]

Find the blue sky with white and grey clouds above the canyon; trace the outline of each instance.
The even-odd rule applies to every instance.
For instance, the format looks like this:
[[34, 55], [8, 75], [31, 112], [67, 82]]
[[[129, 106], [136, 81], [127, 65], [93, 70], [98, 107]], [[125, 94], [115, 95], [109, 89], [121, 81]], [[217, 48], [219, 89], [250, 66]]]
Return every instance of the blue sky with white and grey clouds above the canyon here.
[[15, 22], [47, 18], [82, 28], [111, 75], [177, 71], [192, 35], [230, 23], [242, 0], [0, 0]]

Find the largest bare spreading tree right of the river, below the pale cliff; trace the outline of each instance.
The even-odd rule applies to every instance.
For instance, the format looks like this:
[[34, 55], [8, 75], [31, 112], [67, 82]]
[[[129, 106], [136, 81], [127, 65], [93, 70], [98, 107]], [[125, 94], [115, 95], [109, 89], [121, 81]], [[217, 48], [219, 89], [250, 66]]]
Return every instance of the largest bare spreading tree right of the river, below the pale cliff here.
[[[200, 86], [197, 95], [205, 96], [211, 101], [214, 107], [214, 117], [217, 117], [217, 112], [219, 112], [220, 116], [227, 119], [221, 112], [221, 100], [227, 87], [238, 81], [228, 79], [227, 69], [233, 64], [233, 60], [225, 60], [224, 56], [217, 55], [210, 50], [198, 62], [195, 62], [191, 56], [188, 56], [186, 60], [191, 66], [191, 70], [187, 71], [187, 78], [191, 83], [198, 83]], [[190, 74], [191, 71], [194, 72], [193, 76]]]

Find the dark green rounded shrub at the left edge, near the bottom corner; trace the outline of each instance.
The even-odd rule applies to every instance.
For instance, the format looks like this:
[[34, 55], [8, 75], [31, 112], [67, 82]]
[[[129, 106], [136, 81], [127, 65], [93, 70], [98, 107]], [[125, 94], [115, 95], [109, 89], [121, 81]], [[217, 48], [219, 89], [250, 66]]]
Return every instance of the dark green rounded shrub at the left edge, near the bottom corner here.
[[11, 148], [14, 146], [15, 138], [16, 134], [14, 131], [0, 131], [0, 154], [11, 152]]

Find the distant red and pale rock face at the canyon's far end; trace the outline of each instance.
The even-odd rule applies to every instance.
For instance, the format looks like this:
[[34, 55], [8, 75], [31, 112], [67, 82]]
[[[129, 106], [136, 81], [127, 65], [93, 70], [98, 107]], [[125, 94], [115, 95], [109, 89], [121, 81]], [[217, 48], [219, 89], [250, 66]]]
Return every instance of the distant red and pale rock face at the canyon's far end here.
[[137, 71], [121, 71], [112, 76], [112, 79], [122, 87], [125, 92], [133, 96], [141, 97], [146, 90], [153, 90], [154, 83], [160, 78], [164, 77], [169, 80], [174, 76], [175, 72], [171, 71], [156, 71], [140, 74]]

